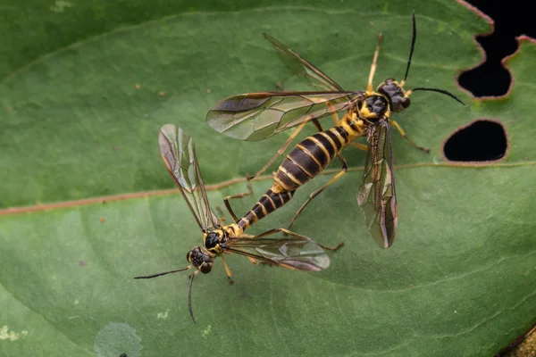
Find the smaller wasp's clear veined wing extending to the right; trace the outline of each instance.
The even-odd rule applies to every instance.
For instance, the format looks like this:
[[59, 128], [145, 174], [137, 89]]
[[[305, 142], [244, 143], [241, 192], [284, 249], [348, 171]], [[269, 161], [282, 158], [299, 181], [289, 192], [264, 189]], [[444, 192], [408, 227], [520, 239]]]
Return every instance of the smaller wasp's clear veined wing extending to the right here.
[[330, 257], [313, 240], [289, 238], [229, 238], [223, 250], [292, 270], [319, 271], [330, 266]]

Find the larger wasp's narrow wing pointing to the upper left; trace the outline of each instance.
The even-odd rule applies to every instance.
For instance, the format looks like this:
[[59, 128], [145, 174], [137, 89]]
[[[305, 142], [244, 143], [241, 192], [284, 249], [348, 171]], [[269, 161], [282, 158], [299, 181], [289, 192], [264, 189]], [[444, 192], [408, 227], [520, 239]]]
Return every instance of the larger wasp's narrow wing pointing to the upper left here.
[[267, 33], [263, 33], [263, 35], [276, 49], [277, 53], [280, 55], [281, 61], [285, 63], [287, 68], [296, 73], [298, 77], [306, 79], [309, 86], [313, 87], [314, 90], [344, 92], [344, 89], [342, 89], [333, 79], [314, 67], [311, 62], [308, 62], [294, 50], [290, 49], [289, 46], [282, 44]]

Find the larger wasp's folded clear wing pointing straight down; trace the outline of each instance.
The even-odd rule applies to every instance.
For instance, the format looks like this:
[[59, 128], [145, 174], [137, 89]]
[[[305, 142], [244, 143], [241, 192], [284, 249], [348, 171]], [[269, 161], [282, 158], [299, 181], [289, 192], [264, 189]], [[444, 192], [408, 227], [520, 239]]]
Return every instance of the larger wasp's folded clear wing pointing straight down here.
[[398, 223], [389, 120], [369, 127], [367, 141], [368, 156], [357, 204], [374, 240], [382, 248], [389, 248], [395, 240]]

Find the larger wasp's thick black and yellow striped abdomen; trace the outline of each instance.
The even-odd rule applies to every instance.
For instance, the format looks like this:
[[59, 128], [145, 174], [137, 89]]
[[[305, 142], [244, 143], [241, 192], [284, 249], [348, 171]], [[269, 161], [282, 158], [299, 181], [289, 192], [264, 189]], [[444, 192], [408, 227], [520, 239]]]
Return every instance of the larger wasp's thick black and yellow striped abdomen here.
[[349, 142], [347, 131], [340, 127], [306, 137], [281, 163], [273, 177], [273, 191], [290, 192], [304, 185], [322, 172]]

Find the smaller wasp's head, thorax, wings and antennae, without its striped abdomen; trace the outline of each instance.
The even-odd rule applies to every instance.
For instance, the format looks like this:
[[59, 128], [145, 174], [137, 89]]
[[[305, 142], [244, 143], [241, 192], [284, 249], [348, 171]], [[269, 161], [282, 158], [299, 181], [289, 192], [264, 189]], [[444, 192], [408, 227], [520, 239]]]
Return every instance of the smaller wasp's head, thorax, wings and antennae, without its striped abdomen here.
[[[196, 269], [191, 274], [188, 291], [188, 310], [194, 323], [196, 320], [191, 308], [192, 282], [199, 271], [209, 273], [217, 257], [222, 258], [225, 272], [231, 278], [224, 254], [237, 253], [245, 255], [255, 264], [264, 262], [291, 270], [319, 271], [328, 268], [330, 257], [324, 249], [336, 248], [318, 245], [312, 239], [285, 228], [274, 228], [258, 236], [247, 235], [244, 233], [249, 226], [247, 219], [228, 226], [222, 225], [208, 203], [197, 163], [196, 148], [191, 137], [182, 129], [172, 124], [165, 124], [160, 129], [158, 141], [163, 162], [203, 233], [203, 245], [196, 246], [187, 253], [186, 259], [190, 265], [186, 268], [137, 278], [156, 278], [178, 271]], [[278, 232], [288, 236], [268, 237]]]

